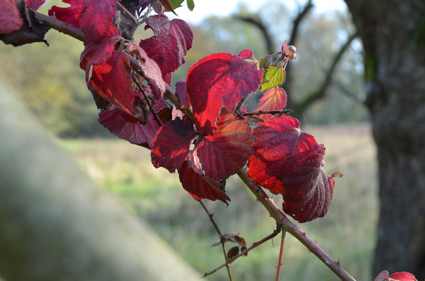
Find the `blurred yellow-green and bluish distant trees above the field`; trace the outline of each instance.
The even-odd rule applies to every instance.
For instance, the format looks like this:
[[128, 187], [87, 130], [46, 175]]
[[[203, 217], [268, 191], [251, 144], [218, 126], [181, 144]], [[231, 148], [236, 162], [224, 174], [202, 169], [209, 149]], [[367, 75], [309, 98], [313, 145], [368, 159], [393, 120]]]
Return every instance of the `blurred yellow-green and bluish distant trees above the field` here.
[[[52, 0], [42, 6], [46, 13], [51, 5], [66, 6]], [[292, 17], [281, 3], [271, 1], [257, 14], [240, 5], [235, 15], [261, 18], [274, 39], [276, 51], [289, 39]], [[185, 79], [189, 68], [211, 53], [236, 54], [249, 48], [257, 59], [268, 55], [261, 31], [249, 23], [230, 17], [209, 17], [198, 26], [192, 26], [193, 47], [187, 53], [187, 62], [173, 73], [173, 84]], [[296, 43], [297, 59], [290, 62], [295, 71], [292, 96], [302, 101], [306, 94], [320, 85], [334, 54], [344, 44], [353, 30], [348, 14], [332, 12], [325, 15], [310, 13], [303, 20]], [[136, 39], [152, 36], [150, 29], [139, 28]], [[0, 44], [0, 75], [22, 93], [25, 101], [54, 134], [60, 137], [111, 136], [97, 123], [97, 110], [85, 84], [84, 71], [79, 68], [82, 42], [51, 30], [46, 35], [50, 46], [34, 43], [21, 47]], [[368, 120], [369, 115], [361, 105], [363, 93], [363, 51], [355, 40], [337, 66], [334, 80], [325, 98], [307, 108], [307, 123], [337, 123]], [[341, 85], [347, 90], [342, 90]], [[285, 84], [283, 84], [285, 88]], [[346, 95], [346, 93], [351, 93]], [[260, 94], [249, 99], [249, 109], [254, 109]]]

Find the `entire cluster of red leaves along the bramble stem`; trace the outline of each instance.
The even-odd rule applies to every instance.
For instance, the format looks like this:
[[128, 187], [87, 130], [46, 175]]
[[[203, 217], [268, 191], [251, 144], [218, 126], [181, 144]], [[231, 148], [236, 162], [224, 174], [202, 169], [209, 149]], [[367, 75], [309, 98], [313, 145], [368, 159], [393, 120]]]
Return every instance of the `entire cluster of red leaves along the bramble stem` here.
[[[15, 0], [7, 1], [9, 20], [7, 25], [1, 25], [3, 33], [19, 29], [22, 22]], [[215, 53], [201, 59], [190, 67], [186, 80], [176, 83], [176, 96], [191, 117], [176, 109], [171, 114], [161, 99], [165, 98], [166, 89], [170, 90], [171, 73], [185, 62], [192, 47], [189, 25], [183, 20], [168, 20], [159, 9], [145, 25], [154, 36], [136, 45], [119, 23], [122, 18], [115, 5], [117, 0], [63, 2], [70, 6], [53, 6], [48, 14], [84, 33], [80, 67], [85, 70], [88, 88], [101, 109], [99, 122], [110, 132], [151, 148], [153, 165], [170, 172], [178, 170], [184, 189], [195, 198], [227, 202], [225, 180], [248, 161], [248, 174], [253, 180], [283, 195], [286, 214], [300, 222], [326, 214], [334, 182], [323, 169], [323, 144], [301, 132], [300, 123], [292, 117], [262, 115], [266, 121], [252, 129], [246, 117], [235, 118], [233, 112], [238, 102], [260, 85], [268, 90], [256, 111], [285, 107], [285, 91], [273, 87], [284, 80], [284, 71], [276, 72], [276, 67], [270, 65], [274, 55], [258, 62], [251, 51], [244, 50], [237, 55]], [[135, 8], [156, 1], [133, 2]], [[25, 3], [36, 10], [44, 0]], [[168, 1], [158, 3], [163, 6]], [[288, 53], [293, 46], [284, 47], [276, 54], [293, 55]], [[269, 81], [264, 84], [267, 71]], [[149, 87], [142, 84], [143, 80]], [[153, 112], [147, 107], [150, 104], [145, 96], [152, 103]], [[154, 112], [166, 117], [155, 120]]]

